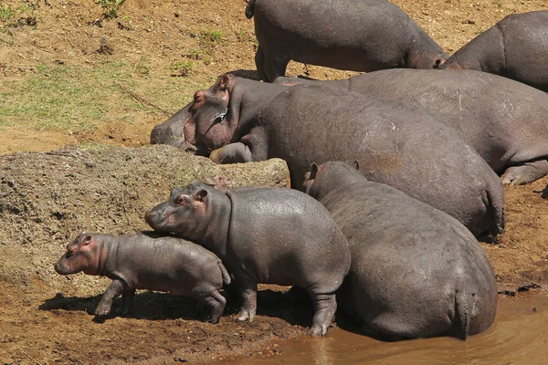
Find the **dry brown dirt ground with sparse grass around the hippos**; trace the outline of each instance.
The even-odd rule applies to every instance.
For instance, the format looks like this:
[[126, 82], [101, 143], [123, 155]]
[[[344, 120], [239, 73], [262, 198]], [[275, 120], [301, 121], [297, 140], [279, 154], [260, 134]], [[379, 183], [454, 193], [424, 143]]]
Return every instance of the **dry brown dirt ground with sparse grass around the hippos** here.
[[[548, 8], [543, 0], [395, 3], [449, 53], [507, 14]], [[234, 323], [230, 315], [236, 308], [229, 306], [218, 326], [208, 325], [195, 320], [190, 300], [146, 291], [136, 297], [131, 317], [95, 323], [91, 313], [108, 280], [67, 279], [52, 270], [79, 229], [117, 234], [145, 228], [141, 217], [149, 202], [176, 183], [216, 172], [203, 160], [187, 161], [162, 147], [95, 150], [105, 144], [147, 145], [153, 125], [223, 72], [257, 78], [253, 24], [244, 6], [241, 0], [126, 0], [118, 16], [107, 19], [93, 0], [0, 0], [1, 362], [172, 363], [259, 352], [278, 356], [276, 341], [300, 336], [309, 325], [311, 308], [293, 302], [280, 287], [263, 287], [254, 324]], [[296, 63], [288, 74], [352, 75]], [[51, 110], [41, 110], [40, 103], [26, 110], [34, 98], [42, 99], [41, 93], [66, 87], [64, 78], [73, 80], [71, 88], [81, 84], [80, 93], [69, 90], [64, 99], [45, 99]], [[94, 94], [103, 89], [109, 93]], [[73, 123], [50, 122], [65, 119], [58, 114]], [[82, 127], [88, 120], [94, 121]], [[85, 149], [7, 155], [67, 144]], [[190, 170], [182, 171], [181, 165]], [[240, 172], [240, 178], [248, 173]], [[269, 178], [282, 185], [280, 173]], [[257, 179], [248, 183], [269, 183]], [[548, 286], [547, 183], [544, 178], [508, 187], [506, 232], [496, 245], [482, 243], [501, 291]]]

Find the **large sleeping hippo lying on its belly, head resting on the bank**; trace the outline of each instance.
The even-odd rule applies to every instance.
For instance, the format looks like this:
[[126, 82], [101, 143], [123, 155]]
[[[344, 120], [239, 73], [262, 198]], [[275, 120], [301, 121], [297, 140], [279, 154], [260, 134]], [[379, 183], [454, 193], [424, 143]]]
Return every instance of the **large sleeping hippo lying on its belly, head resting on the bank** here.
[[454, 216], [474, 235], [502, 232], [497, 174], [457, 130], [424, 111], [349, 90], [227, 75], [196, 91], [184, 110], [186, 142], [212, 151], [214, 162], [278, 157], [299, 187], [311, 162], [358, 160], [367, 179]]

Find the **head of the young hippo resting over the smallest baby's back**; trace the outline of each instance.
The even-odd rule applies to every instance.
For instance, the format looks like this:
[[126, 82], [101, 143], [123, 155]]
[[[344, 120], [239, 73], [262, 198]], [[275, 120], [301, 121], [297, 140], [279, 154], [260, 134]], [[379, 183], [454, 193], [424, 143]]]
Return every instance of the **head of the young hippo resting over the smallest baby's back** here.
[[200, 183], [191, 183], [174, 189], [169, 199], [153, 207], [145, 214], [146, 223], [154, 231], [172, 233], [189, 240], [199, 240], [205, 234], [208, 223], [206, 205], [209, 188]]

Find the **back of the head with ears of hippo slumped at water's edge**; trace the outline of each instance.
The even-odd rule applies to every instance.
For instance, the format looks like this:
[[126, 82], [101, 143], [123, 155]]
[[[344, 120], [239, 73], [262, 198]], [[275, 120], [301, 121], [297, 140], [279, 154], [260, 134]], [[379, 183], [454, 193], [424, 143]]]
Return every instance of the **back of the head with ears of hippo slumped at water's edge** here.
[[321, 200], [332, 190], [347, 183], [364, 181], [364, 175], [359, 172], [360, 165], [354, 161], [352, 166], [344, 162], [325, 162], [321, 165], [312, 162], [311, 171], [304, 175], [302, 191], [311, 197]]

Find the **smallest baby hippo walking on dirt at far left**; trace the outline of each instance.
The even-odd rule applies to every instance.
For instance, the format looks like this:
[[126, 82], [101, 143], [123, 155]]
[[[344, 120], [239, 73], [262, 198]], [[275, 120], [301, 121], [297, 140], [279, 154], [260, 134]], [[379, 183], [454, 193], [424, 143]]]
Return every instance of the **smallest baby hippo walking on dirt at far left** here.
[[210, 308], [207, 322], [217, 323], [227, 299], [219, 293], [230, 276], [221, 260], [201, 245], [156, 233], [90, 235], [82, 232], [61, 256], [55, 271], [61, 275], [84, 274], [112, 279], [100, 298], [95, 315], [111, 313], [112, 299], [121, 295], [127, 314], [135, 289], [169, 292], [194, 297]]

